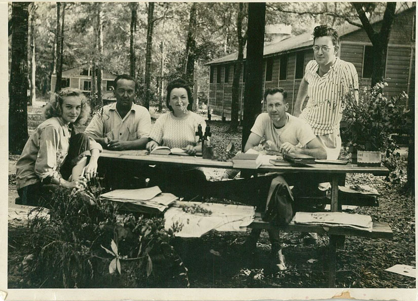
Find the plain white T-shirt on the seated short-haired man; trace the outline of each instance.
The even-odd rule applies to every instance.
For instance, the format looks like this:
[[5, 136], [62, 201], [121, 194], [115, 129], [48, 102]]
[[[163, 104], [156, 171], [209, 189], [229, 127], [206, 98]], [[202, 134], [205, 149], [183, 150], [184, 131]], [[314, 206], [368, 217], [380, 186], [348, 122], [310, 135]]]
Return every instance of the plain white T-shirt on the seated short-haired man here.
[[286, 124], [282, 128], [276, 129], [269, 114], [261, 113], [255, 119], [251, 132], [260, 137], [265, 136], [265, 139], [273, 143], [270, 144], [270, 147], [274, 146], [276, 150], [284, 142], [305, 147], [306, 144], [316, 138], [311, 127], [305, 121], [288, 113], [286, 113], [286, 116], [288, 117]]

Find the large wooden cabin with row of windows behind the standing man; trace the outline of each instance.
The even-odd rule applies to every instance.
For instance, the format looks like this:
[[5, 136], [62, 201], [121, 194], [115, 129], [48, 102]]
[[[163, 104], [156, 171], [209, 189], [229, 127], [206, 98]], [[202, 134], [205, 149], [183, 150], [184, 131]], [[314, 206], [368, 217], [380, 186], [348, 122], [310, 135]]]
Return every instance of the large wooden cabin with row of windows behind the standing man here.
[[[389, 84], [385, 88], [387, 96], [398, 95], [405, 91], [409, 95], [409, 104], [414, 103], [415, 93], [415, 19], [415, 6], [396, 15], [389, 37], [385, 70], [385, 81]], [[377, 20], [372, 26], [379, 29], [381, 24], [382, 22]], [[361, 95], [363, 89], [369, 89], [371, 85], [372, 44], [362, 28], [348, 23], [339, 27], [338, 33], [340, 51], [337, 56], [355, 65]], [[288, 93], [290, 113], [293, 112], [305, 67], [310, 60], [314, 59], [312, 46], [311, 32], [289, 37], [280, 42], [264, 43], [263, 92], [266, 88], [284, 88]], [[233, 53], [205, 64], [210, 67], [208, 112], [224, 119], [231, 118], [234, 61], [237, 57], [238, 53]], [[243, 83], [242, 74], [246, 72], [245, 58], [246, 51], [244, 50], [243, 72], [240, 74], [239, 86], [240, 119], [243, 116], [245, 82]], [[264, 104], [262, 110], [266, 110]]]

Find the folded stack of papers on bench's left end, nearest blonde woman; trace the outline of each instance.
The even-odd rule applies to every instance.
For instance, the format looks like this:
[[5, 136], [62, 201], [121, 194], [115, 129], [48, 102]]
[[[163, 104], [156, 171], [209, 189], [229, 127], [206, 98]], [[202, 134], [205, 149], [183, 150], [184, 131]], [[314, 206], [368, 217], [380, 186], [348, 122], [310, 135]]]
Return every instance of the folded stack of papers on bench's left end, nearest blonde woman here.
[[104, 200], [118, 202], [120, 209], [145, 213], [159, 213], [168, 208], [178, 198], [169, 193], [162, 193], [160, 187], [143, 189], [118, 189], [100, 196]]

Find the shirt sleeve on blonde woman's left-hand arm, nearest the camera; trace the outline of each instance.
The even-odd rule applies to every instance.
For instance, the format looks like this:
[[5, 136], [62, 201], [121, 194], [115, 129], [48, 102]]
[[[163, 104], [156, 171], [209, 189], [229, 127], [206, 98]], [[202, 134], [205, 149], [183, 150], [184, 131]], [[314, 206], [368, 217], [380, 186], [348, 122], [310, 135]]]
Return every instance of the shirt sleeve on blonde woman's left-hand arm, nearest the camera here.
[[59, 136], [58, 130], [54, 127], [46, 127], [41, 133], [35, 162], [35, 173], [41, 181], [48, 177], [61, 177], [57, 171], [57, 157], [61, 162], [64, 161], [68, 149], [58, 149]]

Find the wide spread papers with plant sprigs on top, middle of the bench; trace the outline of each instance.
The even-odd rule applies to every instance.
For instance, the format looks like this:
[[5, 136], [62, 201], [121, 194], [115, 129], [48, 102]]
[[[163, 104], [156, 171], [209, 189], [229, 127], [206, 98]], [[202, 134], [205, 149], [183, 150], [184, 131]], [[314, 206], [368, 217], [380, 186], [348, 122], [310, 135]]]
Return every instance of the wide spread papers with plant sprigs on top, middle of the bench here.
[[[198, 210], [183, 210], [185, 207], [197, 206]], [[193, 213], [193, 211], [195, 211]], [[165, 229], [173, 229], [173, 225], [179, 225], [178, 237], [201, 237], [211, 230], [216, 231], [246, 231], [246, 227], [254, 220], [255, 209], [252, 206], [226, 205], [200, 202], [176, 201], [164, 213]]]

